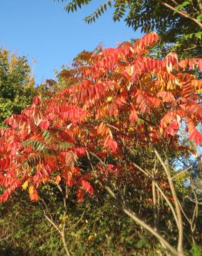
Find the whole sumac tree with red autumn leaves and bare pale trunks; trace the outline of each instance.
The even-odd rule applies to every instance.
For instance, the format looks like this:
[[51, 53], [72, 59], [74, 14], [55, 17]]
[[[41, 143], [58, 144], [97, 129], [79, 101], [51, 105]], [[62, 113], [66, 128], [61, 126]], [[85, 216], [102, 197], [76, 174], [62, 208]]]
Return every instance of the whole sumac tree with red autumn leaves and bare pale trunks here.
[[[21, 114], [6, 119], [9, 127], [1, 129], [0, 138], [1, 203], [21, 186], [37, 201], [37, 189], [55, 183], [66, 211], [68, 192], [76, 191], [78, 201], [84, 201], [86, 194], [93, 196], [104, 188], [113, 205], [151, 232], [164, 248], [184, 255], [181, 205], [169, 157], [178, 151], [194, 153], [194, 148], [181, 145], [178, 138], [182, 121], [189, 139], [196, 145], [202, 142], [196, 128], [201, 120], [201, 81], [193, 72], [201, 70], [202, 61], [179, 62], [174, 53], [156, 60], [148, 50], [156, 42], [158, 35], [149, 33], [134, 46], [123, 43], [118, 48], [98, 47], [82, 53], [75, 59], [75, 68], [60, 73], [68, 81], [66, 88], [45, 100], [35, 96]], [[140, 149], [149, 161], [136, 157]], [[114, 177], [118, 177], [112, 183], [116, 192], [108, 185]], [[134, 188], [134, 184], [148, 194], [151, 190], [162, 194], [176, 221], [176, 248], [160, 235], [158, 217], [154, 218], [156, 229], [152, 228], [127, 206], [122, 187]], [[65, 219], [57, 226], [47, 212], [46, 219], [61, 235], [69, 255]], [[157, 213], [154, 207], [154, 216]]]

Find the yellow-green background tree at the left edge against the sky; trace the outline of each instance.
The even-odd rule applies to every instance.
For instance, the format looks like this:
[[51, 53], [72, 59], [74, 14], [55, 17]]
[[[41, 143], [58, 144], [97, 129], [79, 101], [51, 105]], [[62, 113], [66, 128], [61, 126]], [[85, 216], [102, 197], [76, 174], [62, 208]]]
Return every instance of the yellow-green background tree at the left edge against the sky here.
[[0, 49], [0, 122], [20, 113], [35, 94], [35, 80], [26, 57]]

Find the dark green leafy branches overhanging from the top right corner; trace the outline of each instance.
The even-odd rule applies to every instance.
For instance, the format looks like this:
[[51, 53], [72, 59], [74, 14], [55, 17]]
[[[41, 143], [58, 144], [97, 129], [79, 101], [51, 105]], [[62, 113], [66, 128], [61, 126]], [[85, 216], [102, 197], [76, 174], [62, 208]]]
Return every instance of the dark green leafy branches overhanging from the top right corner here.
[[[63, 0], [62, 0], [63, 1]], [[65, 7], [68, 12], [89, 5], [89, 0], [73, 0]], [[200, 1], [120, 1], [108, 0], [84, 20], [89, 24], [107, 8], [115, 9], [113, 21], [125, 17], [127, 26], [143, 33], [156, 31], [162, 44], [172, 44], [172, 51], [183, 57], [197, 57], [201, 52], [202, 5]]]

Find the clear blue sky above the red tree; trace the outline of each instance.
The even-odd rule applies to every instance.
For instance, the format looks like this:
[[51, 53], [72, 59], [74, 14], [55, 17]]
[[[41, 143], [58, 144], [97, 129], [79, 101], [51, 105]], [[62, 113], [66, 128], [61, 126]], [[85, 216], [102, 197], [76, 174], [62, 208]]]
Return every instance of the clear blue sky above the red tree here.
[[[125, 22], [112, 20], [112, 10], [95, 24], [83, 18], [103, 1], [94, 0], [82, 10], [68, 14], [65, 3], [53, 0], [1, 0], [0, 47], [28, 57], [36, 83], [55, 78], [55, 69], [71, 66], [73, 57], [83, 50], [93, 50], [100, 42], [114, 47], [116, 42], [140, 37]], [[37, 62], [33, 66], [33, 59]]]

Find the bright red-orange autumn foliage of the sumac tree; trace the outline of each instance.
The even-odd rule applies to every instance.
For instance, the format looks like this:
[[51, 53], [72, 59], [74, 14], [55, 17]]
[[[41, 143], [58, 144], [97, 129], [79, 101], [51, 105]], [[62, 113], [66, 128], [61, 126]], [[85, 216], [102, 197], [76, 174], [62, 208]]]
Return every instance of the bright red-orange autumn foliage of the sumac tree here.
[[76, 186], [83, 201], [85, 192], [93, 194], [92, 174], [79, 164], [87, 152], [102, 161], [107, 154], [121, 158], [125, 144], [147, 147], [169, 137], [176, 149], [182, 120], [189, 138], [202, 143], [196, 129], [202, 116], [201, 82], [188, 72], [201, 70], [201, 60], [178, 62], [174, 53], [155, 60], [148, 47], [157, 41], [158, 35], [149, 33], [134, 46], [98, 50], [91, 64], [75, 64], [66, 76], [75, 82], [48, 100], [35, 97], [20, 115], [6, 120], [0, 138], [0, 185], [6, 190], [0, 202], [22, 183], [28, 182], [35, 201], [39, 185], [62, 181]]

